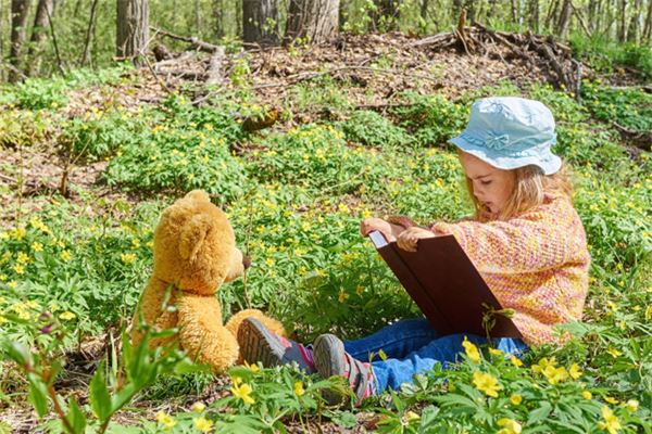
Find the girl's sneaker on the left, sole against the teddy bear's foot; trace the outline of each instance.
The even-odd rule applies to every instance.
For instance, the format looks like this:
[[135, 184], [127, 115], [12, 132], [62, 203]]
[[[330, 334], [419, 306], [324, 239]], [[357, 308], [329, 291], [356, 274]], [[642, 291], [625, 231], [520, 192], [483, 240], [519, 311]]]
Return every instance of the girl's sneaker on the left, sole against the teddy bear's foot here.
[[258, 319], [242, 321], [238, 329], [238, 344], [242, 359], [249, 363], [261, 361], [265, 368], [273, 368], [296, 362], [308, 373], [316, 372], [310, 346], [269, 331]]

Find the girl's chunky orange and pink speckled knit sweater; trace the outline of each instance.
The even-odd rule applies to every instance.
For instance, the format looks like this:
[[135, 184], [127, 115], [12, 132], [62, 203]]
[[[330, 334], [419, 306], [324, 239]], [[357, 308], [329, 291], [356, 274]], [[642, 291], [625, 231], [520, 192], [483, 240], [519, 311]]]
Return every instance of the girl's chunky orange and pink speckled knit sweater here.
[[590, 256], [570, 201], [547, 194], [541, 205], [506, 221], [435, 222], [452, 233], [528, 345], [559, 342], [552, 327], [581, 319]]

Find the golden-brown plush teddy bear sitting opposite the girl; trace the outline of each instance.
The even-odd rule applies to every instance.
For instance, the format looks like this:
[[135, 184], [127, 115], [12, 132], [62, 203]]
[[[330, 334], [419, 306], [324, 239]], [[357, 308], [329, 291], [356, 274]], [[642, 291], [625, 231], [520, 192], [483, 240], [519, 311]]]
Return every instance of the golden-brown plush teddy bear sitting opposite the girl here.
[[178, 333], [152, 339], [150, 347], [178, 339], [180, 347], [199, 363], [221, 372], [239, 359], [238, 328], [248, 317], [285, 335], [277, 320], [246, 309], [223, 324], [215, 293], [220, 285], [242, 275], [249, 259], [236, 247], [226, 215], [202, 190], [177, 200], [161, 215], [154, 230], [154, 267], [131, 321], [131, 343], [143, 337], [141, 321], [154, 330], [178, 328]]

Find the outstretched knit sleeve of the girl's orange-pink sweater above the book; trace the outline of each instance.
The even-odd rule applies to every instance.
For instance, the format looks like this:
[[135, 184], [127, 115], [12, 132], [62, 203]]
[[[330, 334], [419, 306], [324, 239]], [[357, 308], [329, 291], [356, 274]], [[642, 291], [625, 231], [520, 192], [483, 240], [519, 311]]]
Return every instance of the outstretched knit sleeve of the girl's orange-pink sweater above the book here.
[[430, 228], [453, 234], [480, 272], [542, 271], [580, 259], [586, 251], [584, 228], [565, 199], [506, 221], [436, 222]]

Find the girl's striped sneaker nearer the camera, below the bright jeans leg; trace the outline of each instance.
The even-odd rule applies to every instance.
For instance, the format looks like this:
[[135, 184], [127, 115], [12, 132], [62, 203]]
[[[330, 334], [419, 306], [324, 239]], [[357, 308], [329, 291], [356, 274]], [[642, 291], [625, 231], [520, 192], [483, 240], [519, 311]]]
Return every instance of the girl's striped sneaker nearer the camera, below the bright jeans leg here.
[[[349, 381], [351, 390], [358, 397], [358, 405], [374, 395], [376, 378], [371, 363], [365, 363], [353, 358], [344, 352], [344, 344], [333, 334], [322, 334], [315, 340], [314, 362], [319, 375], [329, 378], [343, 376]], [[341, 404], [342, 396], [333, 392], [324, 393], [324, 398], [330, 405]]]

